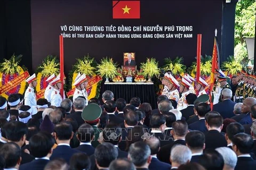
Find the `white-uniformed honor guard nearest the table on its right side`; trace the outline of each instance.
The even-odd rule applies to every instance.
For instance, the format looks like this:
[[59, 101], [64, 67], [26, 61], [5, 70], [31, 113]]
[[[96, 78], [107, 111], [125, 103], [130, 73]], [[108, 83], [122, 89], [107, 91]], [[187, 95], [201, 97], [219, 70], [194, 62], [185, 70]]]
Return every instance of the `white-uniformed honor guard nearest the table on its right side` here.
[[180, 99], [180, 94], [177, 88], [180, 87], [180, 84], [172, 75], [168, 75], [167, 80], [169, 81], [169, 84], [167, 85], [169, 88], [169, 92], [166, 96], [168, 97], [168, 99], [173, 99], [178, 103]]

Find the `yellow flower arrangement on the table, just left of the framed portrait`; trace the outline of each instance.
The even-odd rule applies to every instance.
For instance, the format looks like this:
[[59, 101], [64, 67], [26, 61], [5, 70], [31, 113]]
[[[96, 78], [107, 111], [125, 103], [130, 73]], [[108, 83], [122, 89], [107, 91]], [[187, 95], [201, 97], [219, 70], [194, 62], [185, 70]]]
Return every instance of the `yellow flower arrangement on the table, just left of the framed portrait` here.
[[102, 58], [100, 61], [100, 64], [97, 66], [97, 73], [101, 77], [106, 78], [106, 82], [109, 82], [109, 78], [113, 79], [117, 75], [117, 63], [113, 61], [112, 58]]

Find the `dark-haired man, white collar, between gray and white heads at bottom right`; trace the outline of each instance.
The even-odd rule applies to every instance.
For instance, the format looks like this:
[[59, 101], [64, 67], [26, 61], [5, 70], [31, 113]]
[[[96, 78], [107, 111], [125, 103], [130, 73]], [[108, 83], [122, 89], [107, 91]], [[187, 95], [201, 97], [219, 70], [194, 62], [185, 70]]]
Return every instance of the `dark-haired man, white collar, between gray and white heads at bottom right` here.
[[205, 148], [205, 136], [201, 131], [191, 131], [185, 137], [186, 145], [192, 152], [190, 162], [198, 163], [199, 157], [203, 155]]

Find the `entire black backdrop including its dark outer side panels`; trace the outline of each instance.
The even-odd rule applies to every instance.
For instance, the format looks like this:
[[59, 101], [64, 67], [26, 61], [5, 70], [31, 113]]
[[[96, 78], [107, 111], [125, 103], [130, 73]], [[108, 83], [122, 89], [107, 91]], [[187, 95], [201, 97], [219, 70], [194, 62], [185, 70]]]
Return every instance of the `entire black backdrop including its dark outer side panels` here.
[[[163, 57], [179, 55], [185, 57], [185, 64], [189, 66], [191, 64], [190, 61], [196, 55], [196, 34], [202, 33], [203, 35], [202, 54], [211, 55], [215, 28], [219, 30], [218, 38], [222, 48], [221, 61], [226, 60], [229, 55], [234, 55], [234, 20], [237, 0], [233, 0], [231, 3], [225, 3], [225, 0], [206, 1], [207, 3], [205, 1], [141, 1], [141, 19], [139, 20], [113, 20], [111, 18], [111, 1], [90, 2], [90, 7], [86, 5], [79, 7], [79, 1], [73, 1], [69, 5], [67, 5], [67, 1], [64, 1], [64, 4], [66, 4], [64, 7], [72, 7], [71, 10], [67, 8], [66, 11], [61, 11], [63, 4], [60, 5], [60, 2], [45, 1], [45, 3], [59, 3], [59, 5], [55, 6], [55, 8], [52, 8], [53, 4], [42, 5], [42, 7], [37, 6], [38, 12], [34, 8], [31, 9], [32, 13], [34, 9], [36, 12], [34, 14], [38, 15], [37, 17], [41, 16], [41, 18], [35, 21], [39, 24], [37, 28], [40, 32], [36, 31], [33, 27], [34, 15], [31, 14], [30, 3], [31, 7], [33, 7], [33, 3], [41, 2], [30, 2], [29, 0], [5, 0], [0, 2], [0, 59], [2, 61], [3, 58], [10, 58], [13, 53], [17, 55], [22, 54], [21, 64], [25, 64], [28, 67], [30, 74], [35, 72], [35, 68], [46, 55], [59, 55], [58, 35], [61, 31], [58, 24], [60, 23], [81, 23], [81, 25], [99, 23], [106, 23], [105, 25], [109, 23], [118, 25], [119, 23], [124, 25], [155, 25], [156, 23], [163, 24], [168, 22], [168, 25], [179, 23], [185, 25], [193, 21], [192, 39], [170, 39], [170, 42], [167, 39], [137, 39], [135, 41], [136, 46], [133, 45], [134, 41], [130, 43], [131, 40], [129, 39], [112, 39], [107, 41], [104, 39], [90, 39], [87, 43], [83, 39], [76, 39], [75, 45], [73, 45], [74, 41], [72, 39], [65, 39], [66, 73], [70, 69], [71, 64], [75, 63], [75, 58], [82, 57], [87, 53], [97, 60], [100, 60], [103, 56], [112, 56], [118, 63], [122, 63], [122, 53], [129, 51], [137, 53], [137, 63], [145, 61], [146, 57], [156, 57], [162, 63]], [[169, 4], [164, 5], [164, 2]], [[98, 8], [95, 8], [95, 5]], [[79, 8], [81, 9], [80, 11]], [[43, 15], [42, 12], [44, 12]], [[56, 15], [62, 15], [65, 18], [56, 18]], [[85, 19], [85, 16], [87, 19]], [[31, 18], [33, 20], [32, 29]], [[49, 22], [47, 22], [47, 19]], [[70, 21], [72, 23], [68, 23]], [[36, 34], [33, 32], [36, 32]], [[104, 47], [106, 44], [107, 48]], [[71, 47], [73, 45], [73, 47], [68, 48], [70, 45]], [[97, 46], [95, 47], [95, 45]]]

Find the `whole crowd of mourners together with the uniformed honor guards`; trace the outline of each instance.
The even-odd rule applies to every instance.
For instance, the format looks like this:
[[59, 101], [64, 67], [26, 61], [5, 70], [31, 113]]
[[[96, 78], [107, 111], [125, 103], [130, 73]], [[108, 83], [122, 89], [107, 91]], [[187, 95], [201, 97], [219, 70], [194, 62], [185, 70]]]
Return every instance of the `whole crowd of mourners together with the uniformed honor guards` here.
[[36, 100], [32, 75], [24, 96], [0, 96], [0, 169], [254, 169], [256, 77], [242, 71], [232, 84], [220, 70], [215, 77], [212, 109], [205, 80], [171, 73], [153, 109], [109, 90], [103, 103], [88, 100], [80, 74], [73, 101], [59, 94], [59, 75]]

